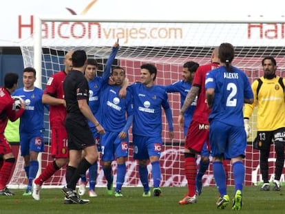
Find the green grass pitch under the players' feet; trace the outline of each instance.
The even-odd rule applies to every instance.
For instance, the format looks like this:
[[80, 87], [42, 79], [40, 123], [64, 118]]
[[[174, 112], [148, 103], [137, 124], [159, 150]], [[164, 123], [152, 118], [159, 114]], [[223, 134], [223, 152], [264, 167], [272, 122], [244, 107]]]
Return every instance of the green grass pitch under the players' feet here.
[[[187, 187], [162, 187], [161, 197], [142, 197], [142, 187], [123, 187], [124, 197], [107, 195], [105, 188], [96, 188], [98, 197], [85, 195], [89, 204], [63, 204], [61, 189], [42, 189], [41, 200], [35, 201], [32, 196], [22, 196], [23, 189], [15, 189], [12, 197], [0, 197], [0, 213], [250, 213], [280, 214], [285, 213], [285, 196], [282, 191], [260, 191], [260, 186], [245, 186], [241, 211], [232, 211], [231, 204], [225, 210], [216, 208], [218, 190], [207, 186], [202, 190], [196, 204], [180, 205]], [[233, 198], [233, 186], [228, 193]]]

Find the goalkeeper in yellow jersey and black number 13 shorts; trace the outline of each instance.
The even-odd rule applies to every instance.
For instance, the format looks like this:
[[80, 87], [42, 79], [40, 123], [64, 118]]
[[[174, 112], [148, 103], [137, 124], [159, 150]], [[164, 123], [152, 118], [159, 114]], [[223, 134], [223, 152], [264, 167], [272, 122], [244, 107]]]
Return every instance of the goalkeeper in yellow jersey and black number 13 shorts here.
[[273, 191], [280, 191], [279, 180], [284, 166], [285, 142], [285, 79], [276, 76], [275, 58], [266, 56], [262, 60], [264, 76], [253, 81], [251, 85], [254, 103], [244, 106], [244, 128], [249, 137], [251, 127], [249, 118], [257, 107], [257, 137], [255, 149], [260, 149], [260, 172], [264, 184], [261, 191], [269, 191], [268, 158], [272, 142], [275, 143], [276, 163]]

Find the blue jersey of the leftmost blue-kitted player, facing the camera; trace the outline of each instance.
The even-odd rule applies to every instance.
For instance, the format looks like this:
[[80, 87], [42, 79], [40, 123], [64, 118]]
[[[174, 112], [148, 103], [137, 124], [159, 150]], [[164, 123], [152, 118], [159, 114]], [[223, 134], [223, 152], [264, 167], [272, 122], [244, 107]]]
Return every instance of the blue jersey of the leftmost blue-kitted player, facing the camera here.
[[44, 105], [41, 102], [43, 90], [34, 87], [27, 91], [22, 87], [17, 89], [13, 96], [20, 96], [25, 100], [25, 111], [20, 118], [20, 135], [21, 133], [43, 131]]

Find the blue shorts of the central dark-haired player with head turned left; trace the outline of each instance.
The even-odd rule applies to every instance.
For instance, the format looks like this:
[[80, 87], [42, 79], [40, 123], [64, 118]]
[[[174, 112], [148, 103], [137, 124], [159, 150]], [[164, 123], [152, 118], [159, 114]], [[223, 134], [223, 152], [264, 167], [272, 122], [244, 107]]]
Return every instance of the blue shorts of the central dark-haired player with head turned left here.
[[134, 159], [147, 160], [150, 156], [160, 157], [162, 151], [161, 137], [146, 137], [133, 135]]

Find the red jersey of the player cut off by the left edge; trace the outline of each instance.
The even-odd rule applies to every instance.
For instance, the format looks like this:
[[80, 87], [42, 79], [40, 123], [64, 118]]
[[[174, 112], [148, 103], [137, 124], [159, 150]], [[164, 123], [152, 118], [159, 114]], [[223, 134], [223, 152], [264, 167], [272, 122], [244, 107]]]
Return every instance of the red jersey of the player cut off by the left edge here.
[[23, 108], [15, 111], [14, 100], [10, 92], [5, 87], [0, 87], [0, 135], [3, 135], [5, 131], [8, 118], [13, 122], [23, 114], [23, 111]]

